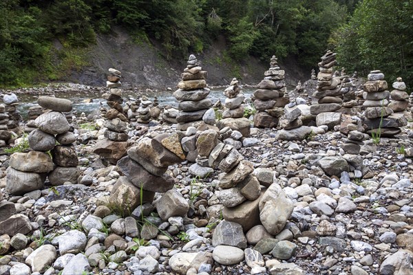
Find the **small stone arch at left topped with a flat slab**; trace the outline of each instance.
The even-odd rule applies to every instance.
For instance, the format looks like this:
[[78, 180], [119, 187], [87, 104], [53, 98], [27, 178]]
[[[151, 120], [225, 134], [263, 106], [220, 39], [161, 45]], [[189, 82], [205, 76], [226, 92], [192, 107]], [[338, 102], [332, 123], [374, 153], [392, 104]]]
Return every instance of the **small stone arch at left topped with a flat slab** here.
[[[47, 111], [36, 118], [34, 122], [37, 129], [28, 136], [32, 151], [11, 155], [6, 172], [6, 186], [13, 195], [41, 189], [47, 176], [52, 186], [67, 181], [76, 184], [80, 174], [73, 145], [76, 137], [63, 114], [72, 110], [72, 102], [48, 96], [41, 96], [37, 102]], [[47, 151], [52, 157], [45, 153]]]

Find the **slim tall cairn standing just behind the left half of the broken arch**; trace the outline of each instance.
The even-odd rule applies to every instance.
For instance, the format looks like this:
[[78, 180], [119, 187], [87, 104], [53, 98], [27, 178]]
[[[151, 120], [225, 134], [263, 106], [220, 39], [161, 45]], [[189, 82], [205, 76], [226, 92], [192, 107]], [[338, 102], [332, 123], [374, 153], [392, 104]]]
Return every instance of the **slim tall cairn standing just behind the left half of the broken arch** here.
[[107, 100], [110, 109], [106, 112], [107, 118], [104, 126], [107, 128], [104, 135], [114, 142], [125, 142], [129, 136], [126, 133], [127, 118], [123, 113], [122, 83], [120, 83], [121, 73], [117, 69], [109, 69], [106, 87], [109, 89], [103, 98]]

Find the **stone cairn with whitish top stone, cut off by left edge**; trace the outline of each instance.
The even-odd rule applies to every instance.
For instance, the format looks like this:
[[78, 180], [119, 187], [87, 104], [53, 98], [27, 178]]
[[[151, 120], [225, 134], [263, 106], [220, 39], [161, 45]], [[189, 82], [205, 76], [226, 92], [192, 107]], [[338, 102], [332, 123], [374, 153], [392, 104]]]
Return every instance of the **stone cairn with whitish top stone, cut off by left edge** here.
[[0, 147], [6, 146], [12, 141], [12, 131], [18, 132], [21, 115], [17, 111], [19, 99], [15, 94], [8, 91], [3, 96], [3, 103], [0, 104]]

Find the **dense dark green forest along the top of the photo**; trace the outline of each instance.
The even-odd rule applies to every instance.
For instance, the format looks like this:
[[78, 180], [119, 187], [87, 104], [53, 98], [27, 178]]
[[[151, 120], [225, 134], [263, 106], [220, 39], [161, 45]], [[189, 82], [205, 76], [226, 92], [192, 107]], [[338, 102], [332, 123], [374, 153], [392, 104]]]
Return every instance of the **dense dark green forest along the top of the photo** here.
[[114, 25], [135, 43], [162, 45], [167, 59], [203, 52], [224, 35], [233, 61], [276, 54], [311, 68], [330, 49], [348, 72], [413, 80], [413, 0], [2, 0], [0, 14], [3, 87], [58, 80], [85, 65], [82, 52]]

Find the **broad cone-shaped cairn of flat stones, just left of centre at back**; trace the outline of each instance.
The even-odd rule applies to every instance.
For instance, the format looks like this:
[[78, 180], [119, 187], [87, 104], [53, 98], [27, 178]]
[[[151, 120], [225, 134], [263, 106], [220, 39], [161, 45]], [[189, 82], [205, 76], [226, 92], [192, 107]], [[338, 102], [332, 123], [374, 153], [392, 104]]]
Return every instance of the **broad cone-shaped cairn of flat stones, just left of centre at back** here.
[[182, 81], [178, 83], [178, 90], [173, 93], [176, 100], [179, 101], [179, 113], [176, 116], [178, 131], [184, 131], [189, 126], [198, 126], [204, 116], [204, 113], [212, 106], [212, 102], [207, 96], [207, 72], [202, 71], [198, 64], [198, 59], [191, 54], [187, 62], [187, 67], [181, 74]]

